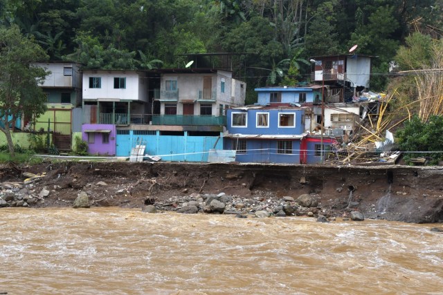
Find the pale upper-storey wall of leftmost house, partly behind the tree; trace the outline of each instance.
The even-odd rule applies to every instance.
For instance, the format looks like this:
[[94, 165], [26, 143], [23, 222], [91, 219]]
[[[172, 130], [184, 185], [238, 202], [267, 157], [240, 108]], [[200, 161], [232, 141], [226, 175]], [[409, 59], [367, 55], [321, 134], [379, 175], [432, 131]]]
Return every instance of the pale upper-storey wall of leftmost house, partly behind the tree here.
[[[57, 62], [57, 63], [44, 63], [37, 62], [34, 63], [35, 66], [39, 66], [42, 68], [46, 68], [51, 71], [51, 74], [46, 76], [44, 83], [41, 85], [42, 87], [73, 87], [73, 88], [81, 88], [81, 79], [80, 79], [80, 66], [79, 64], [71, 63], [71, 62]], [[72, 68], [72, 76], [64, 75], [64, 67]]]

